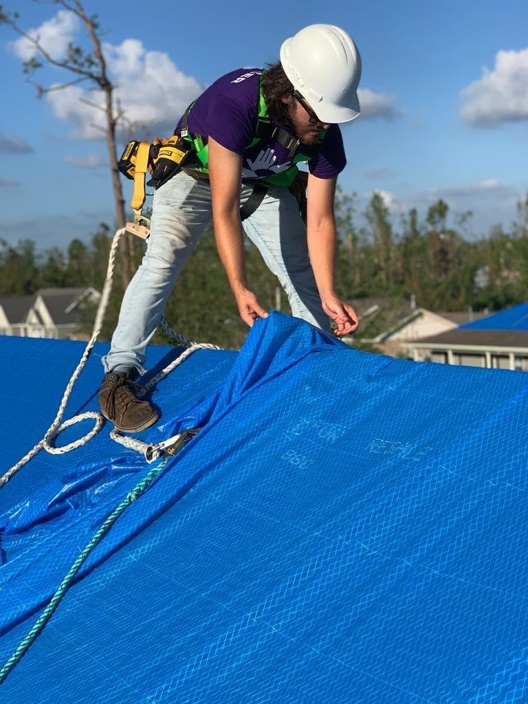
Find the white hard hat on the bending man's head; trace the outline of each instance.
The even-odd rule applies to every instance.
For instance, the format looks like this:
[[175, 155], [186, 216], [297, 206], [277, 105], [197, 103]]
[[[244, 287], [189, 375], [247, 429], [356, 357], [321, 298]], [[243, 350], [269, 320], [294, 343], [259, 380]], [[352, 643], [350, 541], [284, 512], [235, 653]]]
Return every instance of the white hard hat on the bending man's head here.
[[339, 27], [304, 27], [283, 42], [280, 62], [321, 122], [348, 122], [358, 117], [361, 57], [351, 37]]

